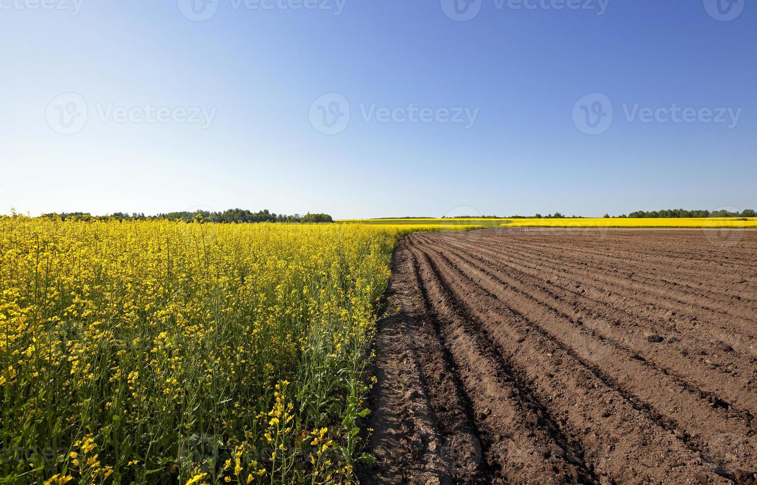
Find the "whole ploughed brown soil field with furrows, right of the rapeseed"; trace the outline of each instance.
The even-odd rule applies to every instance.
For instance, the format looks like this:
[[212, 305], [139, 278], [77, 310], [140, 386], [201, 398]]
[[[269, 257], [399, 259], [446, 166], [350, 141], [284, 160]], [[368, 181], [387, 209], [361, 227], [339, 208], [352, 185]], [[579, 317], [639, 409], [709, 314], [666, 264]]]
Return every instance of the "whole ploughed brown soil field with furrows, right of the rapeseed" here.
[[757, 233], [478, 230], [394, 254], [362, 483], [757, 483]]

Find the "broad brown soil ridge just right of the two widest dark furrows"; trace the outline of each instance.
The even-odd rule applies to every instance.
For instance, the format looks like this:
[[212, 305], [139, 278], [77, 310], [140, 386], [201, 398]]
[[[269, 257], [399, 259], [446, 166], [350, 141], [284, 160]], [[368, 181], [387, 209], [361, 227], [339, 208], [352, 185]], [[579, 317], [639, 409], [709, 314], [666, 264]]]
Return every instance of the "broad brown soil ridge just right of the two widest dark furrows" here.
[[[666, 424], [658, 414], [650, 412], [644, 403], [627, 399], [623, 390], [615, 383], [606, 379], [602, 373], [596, 373], [596, 366], [581, 361], [575, 352], [563, 346], [524, 314], [502, 305], [485, 289], [466, 280], [466, 275], [448, 267], [441, 258], [435, 258], [435, 264], [443, 268], [441, 273], [444, 274], [446, 286], [450, 289], [450, 293], [459, 298], [459, 305], [469, 308], [468, 311], [478, 318], [491, 335], [496, 336], [500, 348], [512, 349], [512, 346], [516, 346], [512, 355], [513, 361], [528, 373], [534, 383], [535, 392], [544, 396], [545, 405], [551, 408], [554, 405], [553, 400], [556, 399], [559, 403], [556, 405], [556, 411], [563, 412], [563, 419], [569, 424], [581, 423], [575, 427], [577, 436], [587, 448], [593, 448], [590, 457], [595, 460], [597, 470], [605, 471], [606, 465], [603, 460], [609, 459], [612, 462], [619, 458], [615, 453], [621, 450], [623, 450], [621, 455], [624, 456], [625, 461], [628, 461], [629, 456], [641, 457], [643, 455], [641, 450], [649, 445], [648, 440], [651, 439], [659, 440], [660, 443], [656, 444], [665, 443], [665, 446], [678, 449], [681, 456], [688, 456], [687, 462], [677, 462], [675, 468], [669, 469], [668, 473], [675, 474], [675, 470], [680, 467], [692, 466], [698, 468], [699, 474], [709, 473], [715, 476], [715, 466], [707, 465], [696, 449], [675, 437], [673, 425]], [[473, 302], [475, 305], [472, 304]], [[534, 364], [534, 361], [539, 364]], [[605, 398], [608, 395], [610, 402], [606, 402], [606, 405], [613, 408], [611, 413], [601, 411], [600, 408], [578, 410], [572, 408], [572, 405], [565, 405], [565, 400], [568, 402], [593, 401], [600, 399], [599, 396]], [[568, 418], [565, 418], [565, 412]], [[636, 430], [645, 430], [646, 437], [640, 437], [637, 433], [617, 433], [617, 422], [613, 426], [605, 425], [607, 418], [616, 421], [618, 416], [622, 417], [623, 424], [631, 425]], [[585, 424], [590, 424], [590, 426], [585, 427]], [[613, 446], [608, 449], [602, 449], [595, 441], [598, 435], [605, 433], [606, 436], [601, 443], [613, 443]], [[635, 451], [629, 452], [629, 450]], [[647, 467], [642, 463], [627, 464], [627, 466], [630, 466], [632, 474], [641, 474]], [[664, 467], [665, 465], [659, 463], [657, 466]], [[610, 476], [620, 483], [629, 478]]]

